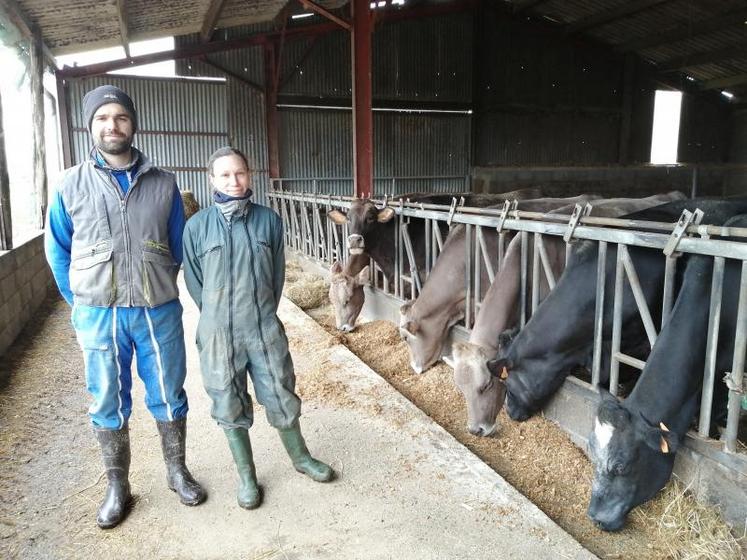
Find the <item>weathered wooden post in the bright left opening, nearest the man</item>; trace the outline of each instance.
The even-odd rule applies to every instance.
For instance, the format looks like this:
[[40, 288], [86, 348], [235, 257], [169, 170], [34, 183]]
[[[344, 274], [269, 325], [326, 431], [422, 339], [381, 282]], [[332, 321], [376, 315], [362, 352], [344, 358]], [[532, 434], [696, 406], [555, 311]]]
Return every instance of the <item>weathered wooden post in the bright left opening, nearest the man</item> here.
[[38, 30], [29, 40], [31, 49], [31, 118], [34, 139], [34, 217], [39, 229], [44, 229], [47, 215], [47, 149], [44, 141], [44, 53]]

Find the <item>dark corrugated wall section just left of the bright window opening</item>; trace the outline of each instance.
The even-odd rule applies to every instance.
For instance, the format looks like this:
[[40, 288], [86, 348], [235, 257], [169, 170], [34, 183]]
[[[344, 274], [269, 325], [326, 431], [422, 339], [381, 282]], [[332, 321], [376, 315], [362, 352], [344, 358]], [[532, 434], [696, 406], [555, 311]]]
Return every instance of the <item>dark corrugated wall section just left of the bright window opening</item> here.
[[474, 165], [616, 162], [621, 59], [492, 10], [480, 22]]

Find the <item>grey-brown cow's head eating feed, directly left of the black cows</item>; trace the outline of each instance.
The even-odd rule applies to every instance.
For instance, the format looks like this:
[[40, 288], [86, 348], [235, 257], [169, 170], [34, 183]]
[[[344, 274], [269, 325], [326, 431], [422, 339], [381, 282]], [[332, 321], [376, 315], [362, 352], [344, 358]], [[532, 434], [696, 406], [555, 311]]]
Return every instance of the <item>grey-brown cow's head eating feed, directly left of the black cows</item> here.
[[467, 431], [476, 436], [495, 432], [506, 387], [486, 367], [488, 352], [477, 344], [453, 345], [454, 383], [467, 402]]

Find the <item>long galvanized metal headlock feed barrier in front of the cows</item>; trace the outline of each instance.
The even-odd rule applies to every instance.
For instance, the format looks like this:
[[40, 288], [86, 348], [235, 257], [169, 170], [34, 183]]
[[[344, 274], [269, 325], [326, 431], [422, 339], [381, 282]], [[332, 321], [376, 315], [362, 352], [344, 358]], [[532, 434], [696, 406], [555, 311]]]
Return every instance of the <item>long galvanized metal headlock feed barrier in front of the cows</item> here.
[[[285, 235], [288, 247], [295, 249], [320, 262], [331, 264], [335, 260], [347, 259], [345, 240], [347, 226], [336, 226], [326, 219], [326, 213], [332, 209], [347, 210], [355, 200], [350, 197], [318, 195], [310, 193], [291, 193], [273, 191], [268, 194], [272, 207], [282, 216], [286, 225]], [[380, 207], [387, 200], [375, 201]], [[395, 278], [393, 286], [386, 279], [378, 281], [375, 267], [371, 267], [374, 287], [401, 300], [415, 298], [420, 293], [422, 284], [427, 279], [433, 264], [443, 248], [439, 222], [465, 225], [465, 289], [466, 309], [462, 322], [469, 332], [479, 310], [481, 293], [483, 293], [481, 276], [483, 269], [492, 282], [496, 270], [488, 258], [485, 232], [488, 229], [498, 233], [498, 270], [503, 265], [509, 232], [516, 232], [521, 242], [521, 295], [520, 324], [523, 326], [540, 303], [540, 282], [544, 279], [550, 289], [555, 286], [554, 277], [547, 251], [546, 236], [560, 237], [566, 243], [566, 262], [570, 255], [570, 244], [577, 239], [598, 242], [598, 266], [596, 283], [596, 307], [594, 328], [594, 350], [592, 361], [592, 382], [585, 384], [591, 391], [599, 384], [602, 361], [602, 324], [605, 300], [605, 265], [609, 244], [617, 247], [616, 274], [614, 283], [613, 324], [611, 341], [610, 392], [618, 392], [618, 374], [621, 363], [643, 369], [645, 361], [624, 354], [620, 350], [622, 336], [622, 297], [627, 280], [635, 303], [638, 307], [646, 335], [653, 346], [658, 336], [651, 312], [646, 304], [638, 272], [630, 258], [628, 247], [645, 247], [662, 251], [666, 259], [662, 321], [663, 325], [671, 313], [674, 304], [674, 278], [677, 269], [678, 254], [692, 253], [713, 257], [714, 269], [711, 288], [708, 332], [706, 334], [706, 360], [701, 410], [698, 421], [698, 435], [708, 438], [711, 410], [713, 404], [713, 381], [715, 378], [716, 351], [719, 337], [719, 318], [721, 314], [722, 288], [726, 259], [741, 261], [741, 282], [737, 310], [737, 330], [735, 333], [735, 350], [731, 372], [724, 379], [728, 390], [728, 416], [726, 431], [723, 437], [723, 450], [737, 460], [741, 471], [747, 472], [747, 455], [737, 453], [737, 431], [741, 402], [745, 395], [744, 369], [745, 349], [747, 348], [747, 228], [725, 228], [721, 226], [701, 225], [701, 213], [683, 212], [676, 224], [636, 221], [615, 218], [601, 218], [586, 215], [588, 209], [576, 205], [572, 215], [542, 214], [523, 212], [514, 209], [506, 201], [501, 209], [468, 208], [454, 200], [451, 206], [412, 203], [409, 201], [388, 201], [397, 215], [397, 234], [395, 246]], [[426, 226], [426, 267], [424, 277], [420, 278], [415, 267], [415, 259], [408, 225], [412, 219], [425, 220]], [[530, 236], [532, 239], [530, 241]], [[718, 239], [719, 237], [744, 237], [745, 241]], [[716, 239], [714, 239], [714, 237]], [[532, 274], [529, 274], [529, 244], [533, 243]], [[375, 264], [375, 263], [374, 263]], [[531, 304], [530, 304], [531, 303]], [[583, 384], [583, 382], [581, 382]], [[713, 441], [713, 440], [711, 440]]]

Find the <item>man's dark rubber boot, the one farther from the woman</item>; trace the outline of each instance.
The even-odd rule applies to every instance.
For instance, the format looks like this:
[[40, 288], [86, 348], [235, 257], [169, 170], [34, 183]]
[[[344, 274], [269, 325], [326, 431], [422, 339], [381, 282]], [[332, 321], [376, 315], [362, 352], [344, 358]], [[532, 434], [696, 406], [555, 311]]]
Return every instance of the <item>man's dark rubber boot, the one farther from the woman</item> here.
[[94, 428], [101, 446], [107, 486], [104, 501], [99, 506], [96, 523], [102, 529], [116, 527], [127, 516], [132, 502], [130, 482], [130, 431], [125, 426], [119, 430]]

